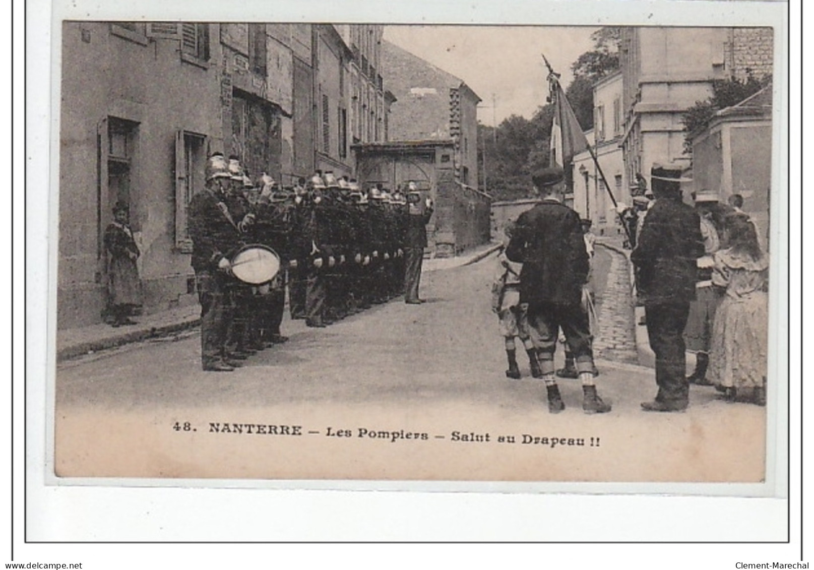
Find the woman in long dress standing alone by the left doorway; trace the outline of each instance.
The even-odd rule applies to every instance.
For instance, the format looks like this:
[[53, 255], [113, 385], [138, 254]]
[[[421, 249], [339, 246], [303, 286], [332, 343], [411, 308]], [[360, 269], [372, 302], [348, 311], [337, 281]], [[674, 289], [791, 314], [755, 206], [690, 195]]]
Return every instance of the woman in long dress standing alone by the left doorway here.
[[113, 208], [113, 221], [104, 233], [107, 250], [107, 310], [112, 326], [136, 324], [133, 309], [142, 305], [142, 282], [138, 278], [138, 246], [128, 225], [127, 205]]

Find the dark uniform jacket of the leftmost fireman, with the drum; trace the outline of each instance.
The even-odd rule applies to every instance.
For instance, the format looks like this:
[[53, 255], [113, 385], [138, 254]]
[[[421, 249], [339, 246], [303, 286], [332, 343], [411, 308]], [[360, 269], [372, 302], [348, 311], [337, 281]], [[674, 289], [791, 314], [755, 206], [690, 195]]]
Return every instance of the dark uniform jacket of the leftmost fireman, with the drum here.
[[223, 199], [204, 189], [193, 196], [189, 209], [192, 267], [195, 271], [214, 271], [223, 257], [231, 258], [243, 245], [234, 217]]

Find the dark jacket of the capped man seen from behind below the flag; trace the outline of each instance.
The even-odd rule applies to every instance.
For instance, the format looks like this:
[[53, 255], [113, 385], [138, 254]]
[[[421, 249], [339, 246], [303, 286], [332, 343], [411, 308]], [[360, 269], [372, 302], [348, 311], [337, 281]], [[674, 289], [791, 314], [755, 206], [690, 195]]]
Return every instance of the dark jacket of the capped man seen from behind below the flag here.
[[545, 199], [520, 214], [506, 247], [510, 261], [523, 263], [520, 302], [579, 304], [589, 259], [580, 215]]

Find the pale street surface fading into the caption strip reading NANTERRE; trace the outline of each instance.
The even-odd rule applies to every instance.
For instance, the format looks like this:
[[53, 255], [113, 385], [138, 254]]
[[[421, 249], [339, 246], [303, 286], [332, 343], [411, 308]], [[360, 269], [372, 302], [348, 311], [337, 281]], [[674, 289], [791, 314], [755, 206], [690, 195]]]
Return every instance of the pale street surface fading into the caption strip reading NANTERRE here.
[[[597, 255], [610, 268], [599, 272], [609, 278], [597, 290], [610, 292], [613, 257]], [[326, 329], [285, 322], [287, 344], [232, 373], [200, 370], [197, 334], [65, 362], [55, 393], [56, 471], [269, 479], [763, 477], [764, 410], [728, 406], [711, 388], [694, 388], [685, 414], [644, 414], [639, 402], [654, 393], [652, 372], [600, 361], [599, 389], [614, 410], [583, 414], [580, 386], [569, 381], [562, 383], [567, 410], [553, 415], [523, 357], [525, 377], [505, 379], [489, 309], [493, 262], [425, 274], [424, 305], [392, 301]], [[610, 300], [601, 299], [600, 309]], [[538, 443], [523, 443], [534, 437]]]

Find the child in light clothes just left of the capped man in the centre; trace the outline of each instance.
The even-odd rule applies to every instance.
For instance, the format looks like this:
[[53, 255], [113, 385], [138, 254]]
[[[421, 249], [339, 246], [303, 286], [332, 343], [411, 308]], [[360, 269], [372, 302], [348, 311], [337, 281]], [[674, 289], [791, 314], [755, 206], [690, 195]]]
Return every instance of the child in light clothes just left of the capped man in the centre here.
[[[514, 224], [509, 222], [503, 230], [507, 239], [511, 239]], [[518, 337], [523, 342], [526, 349], [528, 362], [531, 366], [532, 376], [540, 378], [540, 364], [537, 362], [537, 354], [532, 344], [528, 332], [526, 321], [526, 310], [520, 305], [520, 270], [523, 264], [509, 261], [505, 256], [505, 244], [501, 246], [497, 256], [497, 271], [495, 280], [492, 283], [492, 311], [497, 314], [500, 322], [500, 331], [505, 344], [506, 358], [509, 361], [509, 370], [506, 377], [511, 379], [520, 378], [520, 369], [517, 364], [517, 349], [514, 344], [514, 337]]]

